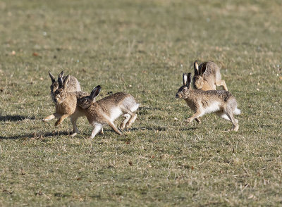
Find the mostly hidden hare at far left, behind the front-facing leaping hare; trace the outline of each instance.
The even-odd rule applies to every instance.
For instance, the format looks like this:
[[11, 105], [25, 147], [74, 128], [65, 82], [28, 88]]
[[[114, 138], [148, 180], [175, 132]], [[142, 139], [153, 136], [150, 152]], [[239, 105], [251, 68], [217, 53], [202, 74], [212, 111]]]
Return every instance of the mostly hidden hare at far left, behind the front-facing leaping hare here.
[[[49, 76], [52, 82], [52, 84], [50, 85], [50, 91], [51, 91], [50, 95], [52, 101], [54, 101], [56, 89], [59, 88], [59, 82], [55, 80], [54, 75], [52, 75], [50, 71], [49, 71]], [[66, 76], [63, 76], [63, 71], [59, 74], [59, 76], [63, 78], [63, 82], [66, 80]], [[68, 87], [66, 88], [66, 90], [68, 92], [81, 92], [80, 83], [75, 77], [70, 75], [68, 80]]]

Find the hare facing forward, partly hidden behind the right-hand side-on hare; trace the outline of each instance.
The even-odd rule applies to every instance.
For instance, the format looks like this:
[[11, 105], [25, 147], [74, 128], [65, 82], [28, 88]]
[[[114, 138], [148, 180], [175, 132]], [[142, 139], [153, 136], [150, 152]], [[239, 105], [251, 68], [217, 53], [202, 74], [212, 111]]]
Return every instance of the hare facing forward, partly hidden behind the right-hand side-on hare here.
[[193, 86], [195, 89], [203, 91], [215, 90], [216, 86], [223, 86], [223, 89], [228, 91], [226, 83], [221, 80], [219, 66], [214, 62], [204, 62], [200, 66], [198, 62], [194, 63], [195, 75], [193, 77]]

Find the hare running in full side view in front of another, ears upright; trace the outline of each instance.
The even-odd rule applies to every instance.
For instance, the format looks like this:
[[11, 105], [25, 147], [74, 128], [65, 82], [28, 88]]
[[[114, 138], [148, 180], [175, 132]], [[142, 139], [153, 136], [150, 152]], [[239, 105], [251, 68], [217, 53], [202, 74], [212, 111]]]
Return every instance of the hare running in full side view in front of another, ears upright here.
[[230, 92], [191, 89], [190, 84], [191, 73], [184, 73], [183, 86], [176, 93], [176, 98], [184, 99], [192, 111], [195, 112], [188, 118], [188, 123], [206, 113], [216, 113], [219, 117], [231, 121], [233, 124], [231, 130], [238, 131], [238, 120], [234, 118], [234, 114], [240, 114], [240, 109], [237, 108], [237, 101]]

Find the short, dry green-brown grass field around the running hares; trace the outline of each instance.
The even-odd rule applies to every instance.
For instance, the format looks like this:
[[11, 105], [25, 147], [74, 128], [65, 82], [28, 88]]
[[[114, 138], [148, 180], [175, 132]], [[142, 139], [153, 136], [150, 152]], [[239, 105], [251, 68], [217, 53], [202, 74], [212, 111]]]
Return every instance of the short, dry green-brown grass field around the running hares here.
[[[196, 3], [197, 2], [197, 3]], [[0, 206], [282, 206], [281, 1], [0, 1]], [[242, 114], [176, 100], [221, 65]], [[54, 127], [48, 71], [141, 103], [129, 132]], [[177, 120], [175, 120], [177, 118]], [[119, 123], [121, 120], [117, 120]]]

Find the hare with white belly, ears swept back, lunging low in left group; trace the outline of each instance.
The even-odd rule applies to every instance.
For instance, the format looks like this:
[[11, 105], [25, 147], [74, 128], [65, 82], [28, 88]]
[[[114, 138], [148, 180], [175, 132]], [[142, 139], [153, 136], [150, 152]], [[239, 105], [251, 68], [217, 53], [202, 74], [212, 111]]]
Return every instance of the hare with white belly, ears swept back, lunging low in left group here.
[[123, 115], [125, 119], [120, 128], [121, 130], [128, 129], [137, 118], [137, 114], [134, 112], [137, 111], [139, 103], [136, 103], [133, 96], [123, 92], [95, 101], [95, 97], [100, 91], [101, 87], [98, 85], [92, 90], [90, 96], [78, 99], [78, 106], [85, 110], [87, 120], [90, 125], [94, 126], [90, 138], [94, 138], [104, 125], [109, 125], [117, 134], [121, 135], [121, 131], [114, 125], [114, 120]]

